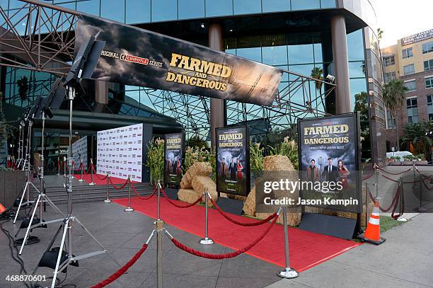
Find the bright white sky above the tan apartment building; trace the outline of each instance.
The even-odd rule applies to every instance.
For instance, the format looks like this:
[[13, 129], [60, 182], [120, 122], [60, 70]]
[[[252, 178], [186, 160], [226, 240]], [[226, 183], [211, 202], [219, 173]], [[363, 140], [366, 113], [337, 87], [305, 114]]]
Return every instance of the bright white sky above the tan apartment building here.
[[381, 47], [433, 29], [433, 0], [376, 0], [377, 27], [383, 30]]

